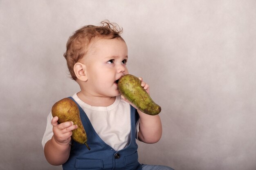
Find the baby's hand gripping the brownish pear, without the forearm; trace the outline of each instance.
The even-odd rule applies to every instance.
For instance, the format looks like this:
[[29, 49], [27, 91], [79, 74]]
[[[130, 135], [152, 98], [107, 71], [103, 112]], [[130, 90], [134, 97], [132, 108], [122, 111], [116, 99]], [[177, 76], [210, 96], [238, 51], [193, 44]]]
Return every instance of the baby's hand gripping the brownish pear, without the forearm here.
[[77, 128], [72, 121], [58, 124], [58, 117], [52, 119], [53, 137], [58, 144], [69, 144], [71, 141], [72, 130]]

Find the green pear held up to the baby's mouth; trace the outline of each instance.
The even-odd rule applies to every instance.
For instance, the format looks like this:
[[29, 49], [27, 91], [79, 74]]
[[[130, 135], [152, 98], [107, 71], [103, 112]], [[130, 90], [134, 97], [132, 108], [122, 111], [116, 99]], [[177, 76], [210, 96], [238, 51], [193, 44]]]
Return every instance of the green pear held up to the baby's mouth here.
[[118, 80], [118, 89], [137, 109], [148, 115], [157, 115], [161, 107], [157, 105], [141, 86], [141, 81], [134, 75], [124, 75]]

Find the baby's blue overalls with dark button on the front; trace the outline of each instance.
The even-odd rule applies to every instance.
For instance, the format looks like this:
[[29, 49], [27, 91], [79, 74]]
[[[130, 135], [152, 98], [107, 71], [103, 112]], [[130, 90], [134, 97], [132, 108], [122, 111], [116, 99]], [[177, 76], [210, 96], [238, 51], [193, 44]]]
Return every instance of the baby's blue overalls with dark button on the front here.
[[[70, 97], [70, 99], [73, 98]], [[137, 110], [130, 106], [131, 138], [129, 145], [122, 150], [115, 151], [99, 137], [83, 109], [79, 104], [77, 105], [87, 134], [87, 144], [91, 150], [88, 150], [84, 144], [73, 141], [70, 158], [63, 164], [63, 170], [141, 170], [135, 137], [135, 124], [139, 117]]]

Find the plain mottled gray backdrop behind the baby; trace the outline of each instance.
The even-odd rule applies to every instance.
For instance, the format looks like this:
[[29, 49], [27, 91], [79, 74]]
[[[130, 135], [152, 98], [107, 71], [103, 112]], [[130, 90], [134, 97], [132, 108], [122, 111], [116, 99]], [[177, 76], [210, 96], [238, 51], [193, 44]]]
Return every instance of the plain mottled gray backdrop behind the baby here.
[[79, 91], [65, 44], [104, 19], [124, 28], [128, 69], [162, 106], [141, 163], [256, 170], [255, 0], [0, 0], [0, 170], [61, 170], [41, 139], [52, 105]]

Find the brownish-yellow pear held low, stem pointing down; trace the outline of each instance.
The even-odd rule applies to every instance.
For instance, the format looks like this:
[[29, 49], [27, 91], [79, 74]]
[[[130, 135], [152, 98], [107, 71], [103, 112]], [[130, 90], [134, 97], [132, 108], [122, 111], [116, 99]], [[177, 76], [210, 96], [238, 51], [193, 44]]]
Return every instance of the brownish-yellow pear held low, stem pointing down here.
[[64, 98], [56, 102], [52, 106], [52, 116], [58, 116], [59, 124], [65, 121], [73, 121], [73, 123], [76, 124], [78, 128], [72, 130], [72, 139], [80, 144], [85, 144], [86, 147], [90, 150], [86, 143], [87, 135], [80, 118], [79, 108], [72, 99]]

